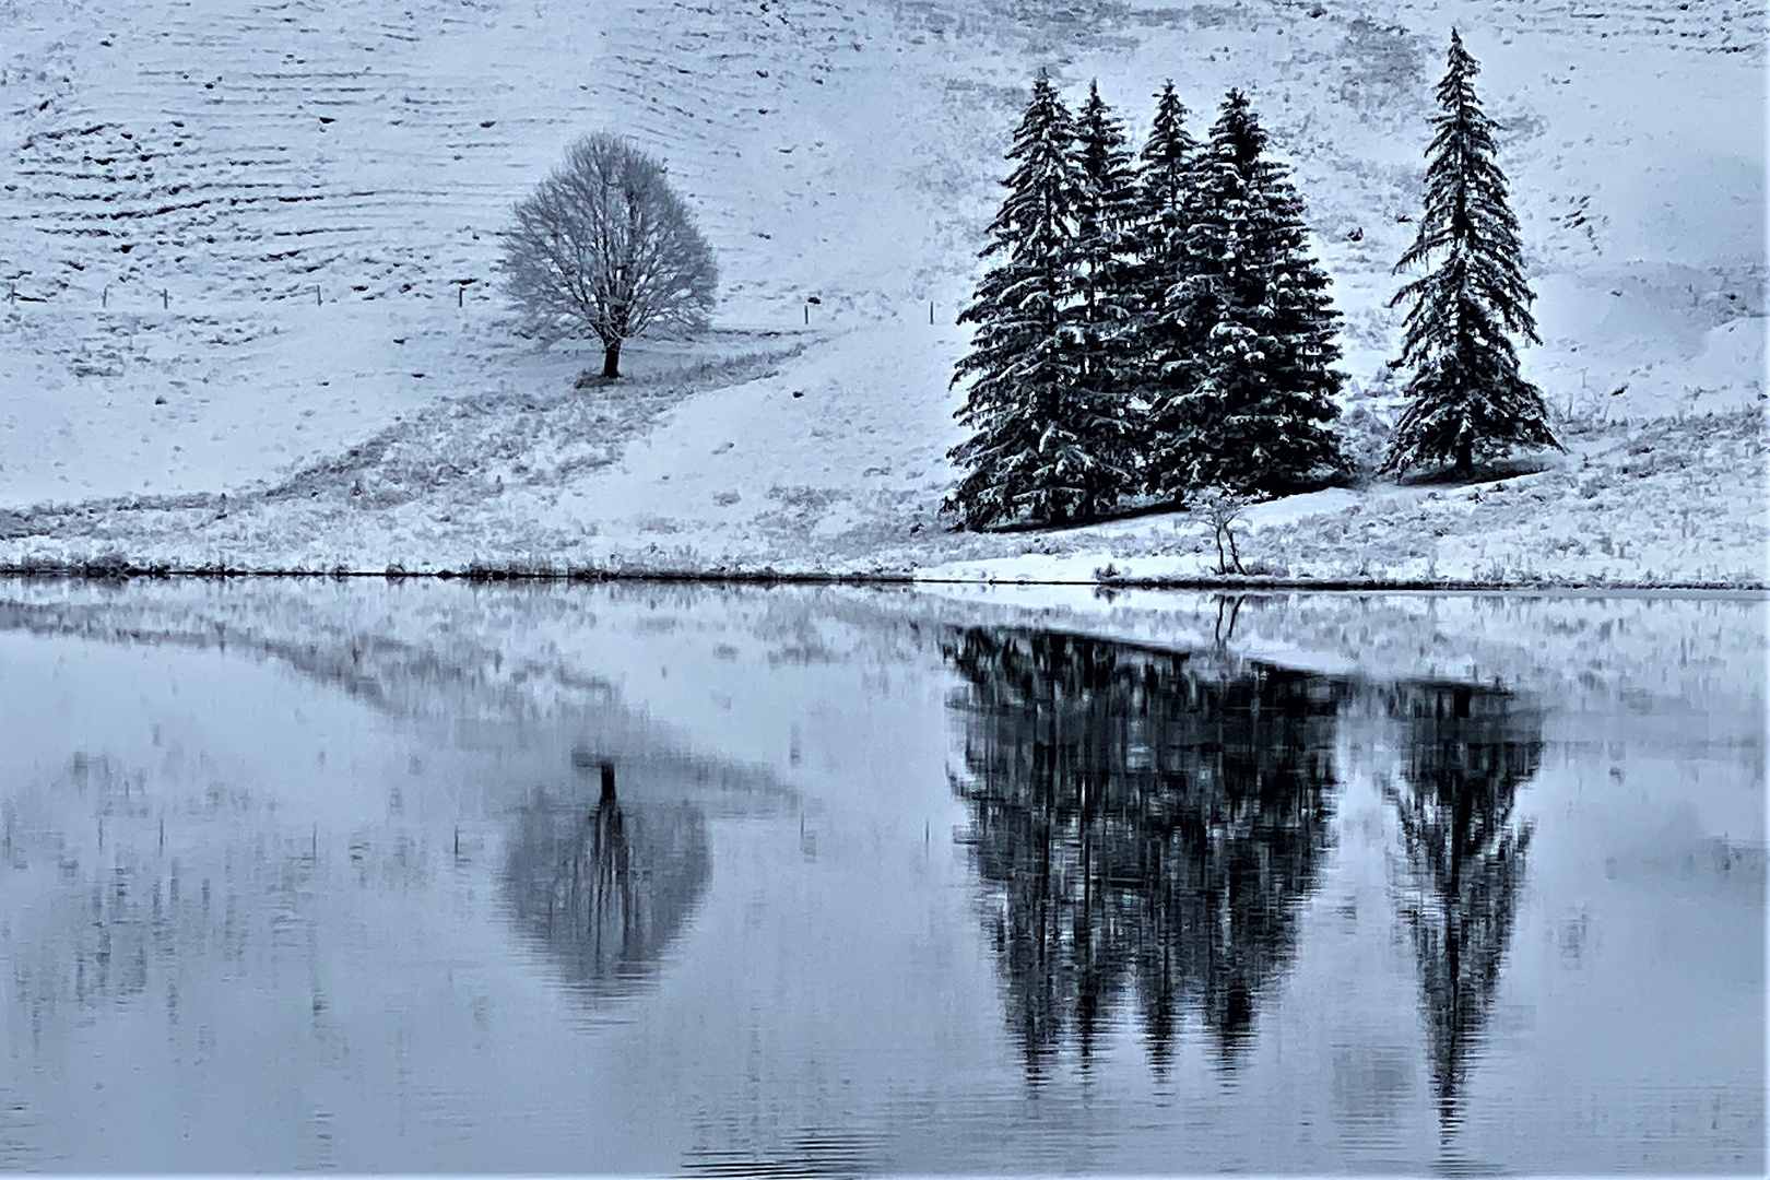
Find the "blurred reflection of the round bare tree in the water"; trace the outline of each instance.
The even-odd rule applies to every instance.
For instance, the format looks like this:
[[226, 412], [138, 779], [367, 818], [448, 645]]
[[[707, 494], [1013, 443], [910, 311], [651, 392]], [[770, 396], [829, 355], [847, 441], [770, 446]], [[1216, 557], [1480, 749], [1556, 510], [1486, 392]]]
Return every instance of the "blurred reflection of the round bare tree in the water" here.
[[701, 814], [680, 805], [623, 805], [602, 768], [591, 807], [536, 791], [519, 812], [504, 885], [520, 929], [565, 980], [593, 1000], [635, 992], [706, 892]]

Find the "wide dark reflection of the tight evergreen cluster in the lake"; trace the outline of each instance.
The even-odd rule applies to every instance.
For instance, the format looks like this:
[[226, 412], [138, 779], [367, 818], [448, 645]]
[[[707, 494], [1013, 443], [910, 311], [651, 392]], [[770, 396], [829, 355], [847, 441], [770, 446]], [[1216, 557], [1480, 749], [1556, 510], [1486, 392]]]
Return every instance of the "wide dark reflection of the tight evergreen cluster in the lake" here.
[[1329, 846], [1338, 688], [1108, 640], [966, 630], [954, 789], [1039, 1077], [1131, 1001], [1166, 1069], [1195, 1015], [1225, 1065], [1289, 964]]

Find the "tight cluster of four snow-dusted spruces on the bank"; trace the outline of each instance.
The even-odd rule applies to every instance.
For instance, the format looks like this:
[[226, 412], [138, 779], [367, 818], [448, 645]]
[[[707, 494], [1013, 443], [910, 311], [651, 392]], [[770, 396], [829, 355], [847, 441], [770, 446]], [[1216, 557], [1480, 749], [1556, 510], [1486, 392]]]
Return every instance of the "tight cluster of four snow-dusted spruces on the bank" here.
[[1099, 88], [1050, 78], [1014, 133], [997, 258], [959, 317], [975, 347], [954, 451], [966, 527], [1094, 520], [1209, 485], [1273, 494], [1333, 476], [1336, 311], [1303, 200], [1230, 90], [1207, 143], [1163, 87], [1138, 159]]

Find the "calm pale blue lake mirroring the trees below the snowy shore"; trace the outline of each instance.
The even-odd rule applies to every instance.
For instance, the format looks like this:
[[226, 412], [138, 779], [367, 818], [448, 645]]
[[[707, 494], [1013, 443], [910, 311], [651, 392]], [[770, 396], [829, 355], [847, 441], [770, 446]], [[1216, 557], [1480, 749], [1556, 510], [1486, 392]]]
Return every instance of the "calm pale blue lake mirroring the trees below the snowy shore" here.
[[1763, 1173], [1747, 598], [0, 584], [0, 1166]]

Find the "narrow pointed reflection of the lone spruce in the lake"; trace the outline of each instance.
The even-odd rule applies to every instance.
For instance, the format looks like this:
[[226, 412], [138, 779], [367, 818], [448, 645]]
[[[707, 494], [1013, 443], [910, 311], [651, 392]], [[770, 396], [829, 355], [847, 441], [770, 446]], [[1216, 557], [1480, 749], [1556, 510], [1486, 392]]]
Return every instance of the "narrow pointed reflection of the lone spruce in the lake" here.
[[1441, 1125], [1458, 1118], [1524, 886], [1531, 824], [1517, 789], [1542, 764], [1542, 713], [1510, 692], [1404, 686], [1405, 791], [1389, 791], [1407, 854], [1402, 918], [1420, 959]]

